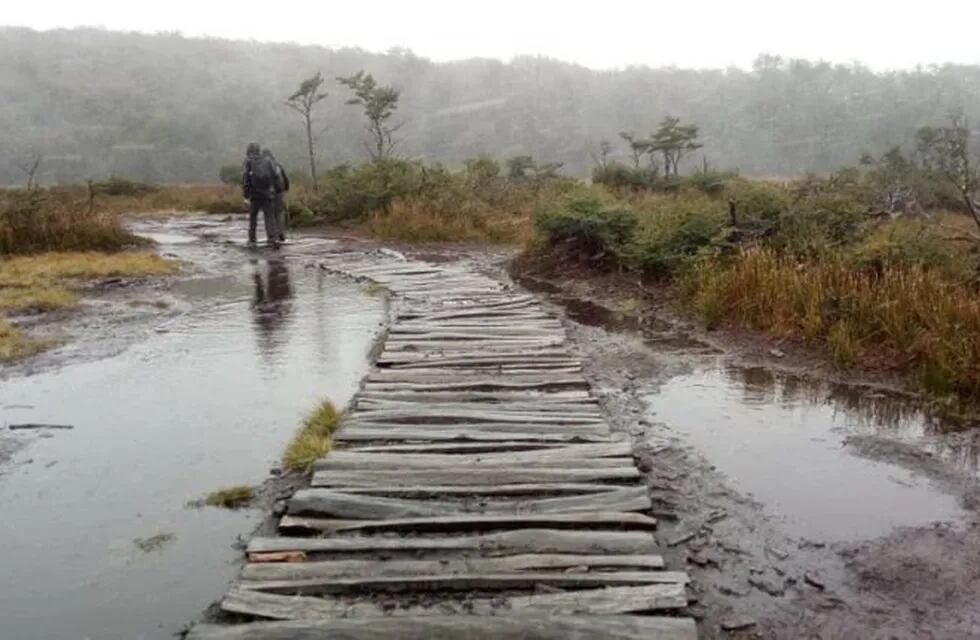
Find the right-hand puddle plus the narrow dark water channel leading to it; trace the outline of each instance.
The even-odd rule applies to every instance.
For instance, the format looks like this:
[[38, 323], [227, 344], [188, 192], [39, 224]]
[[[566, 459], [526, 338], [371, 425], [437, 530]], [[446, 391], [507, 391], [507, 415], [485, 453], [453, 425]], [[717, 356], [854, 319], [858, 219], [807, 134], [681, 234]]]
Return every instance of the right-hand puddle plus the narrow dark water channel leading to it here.
[[[865, 387], [731, 366], [656, 318], [557, 301], [577, 322], [642, 336], [657, 362], [655, 379], [637, 380], [650, 389], [647, 419], [693, 446], [788, 535], [859, 540], [967, 515], [935, 471], [975, 478], [980, 450], [948, 435], [950, 426], [920, 405]], [[885, 453], [869, 459], [846, 444], [853, 438], [883, 443]]]

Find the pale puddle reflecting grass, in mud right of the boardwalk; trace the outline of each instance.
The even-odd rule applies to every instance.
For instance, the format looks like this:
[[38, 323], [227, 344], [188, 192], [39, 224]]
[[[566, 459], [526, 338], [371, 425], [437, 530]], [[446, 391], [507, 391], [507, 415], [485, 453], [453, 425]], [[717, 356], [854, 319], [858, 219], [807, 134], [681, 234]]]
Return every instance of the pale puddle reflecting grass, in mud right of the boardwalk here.
[[828, 542], [958, 521], [957, 499], [920, 473], [855, 455], [849, 436], [886, 436], [976, 471], [976, 450], [930, 438], [939, 425], [900, 399], [765, 369], [696, 369], [646, 396], [668, 424], [789, 535]]

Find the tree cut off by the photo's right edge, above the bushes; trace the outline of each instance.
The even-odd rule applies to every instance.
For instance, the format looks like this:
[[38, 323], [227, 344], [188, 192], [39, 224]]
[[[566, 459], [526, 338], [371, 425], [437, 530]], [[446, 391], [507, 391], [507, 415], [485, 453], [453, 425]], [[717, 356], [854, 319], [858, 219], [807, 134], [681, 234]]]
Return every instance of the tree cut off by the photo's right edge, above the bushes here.
[[916, 134], [917, 151], [927, 170], [938, 171], [952, 182], [966, 210], [980, 228], [980, 169], [970, 150], [970, 127], [962, 113], [950, 117], [948, 127], [922, 127]]

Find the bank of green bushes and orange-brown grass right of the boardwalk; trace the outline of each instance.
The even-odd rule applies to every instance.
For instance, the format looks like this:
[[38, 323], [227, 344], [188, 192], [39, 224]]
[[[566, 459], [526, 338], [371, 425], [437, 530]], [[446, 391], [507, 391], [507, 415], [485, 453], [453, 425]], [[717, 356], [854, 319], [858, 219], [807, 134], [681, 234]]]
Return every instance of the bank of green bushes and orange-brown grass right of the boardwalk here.
[[671, 285], [709, 329], [795, 341], [980, 405], [980, 241], [959, 213], [892, 219], [856, 181], [730, 178], [537, 209], [530, 255]]

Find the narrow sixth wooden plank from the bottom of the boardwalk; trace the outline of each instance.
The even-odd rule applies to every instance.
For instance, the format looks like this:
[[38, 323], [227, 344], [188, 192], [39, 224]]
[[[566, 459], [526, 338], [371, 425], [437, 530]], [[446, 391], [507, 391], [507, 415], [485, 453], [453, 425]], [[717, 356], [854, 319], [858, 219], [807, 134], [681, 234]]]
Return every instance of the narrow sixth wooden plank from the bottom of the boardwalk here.
[[583, 529], [615, 528], [622, 531], [653, 531], [657, 520], [639, 513], [595, 511], [559, 513], [548, 515], [458, 515], [430, 518], [401, 518], [387, 520], [336, 520], [329, 518], [300, 518], [283, 516], [279, 522], [282, 530], [301, 529], [329, 533], [360, 531], [381, 533], [386, 531], [472, 531], [488, 529]]

